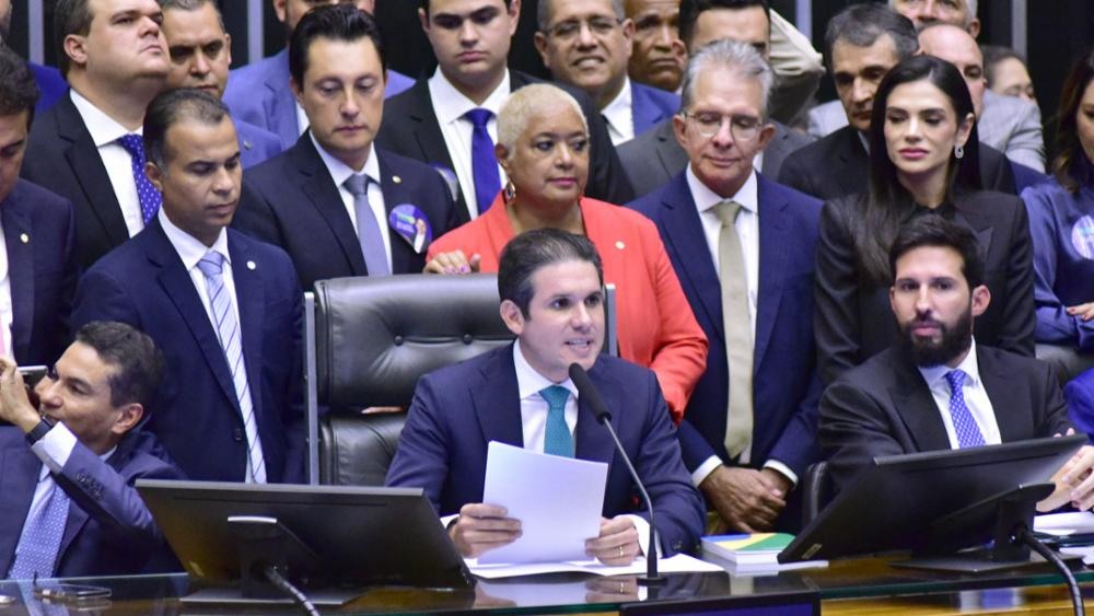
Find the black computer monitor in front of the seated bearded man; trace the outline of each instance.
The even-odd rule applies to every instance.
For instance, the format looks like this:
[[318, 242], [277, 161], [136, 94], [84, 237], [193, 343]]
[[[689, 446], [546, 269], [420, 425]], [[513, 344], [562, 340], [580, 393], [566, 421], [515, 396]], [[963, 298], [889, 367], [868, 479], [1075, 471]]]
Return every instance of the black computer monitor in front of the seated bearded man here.
[[1028, 496], [1031, 486], [1048, 483], [1085, 442], [1084, 434], [1074, 434], [876, 457], [779, 561], [982, 545], [994, 531], [991, 503], [1021, 487]]

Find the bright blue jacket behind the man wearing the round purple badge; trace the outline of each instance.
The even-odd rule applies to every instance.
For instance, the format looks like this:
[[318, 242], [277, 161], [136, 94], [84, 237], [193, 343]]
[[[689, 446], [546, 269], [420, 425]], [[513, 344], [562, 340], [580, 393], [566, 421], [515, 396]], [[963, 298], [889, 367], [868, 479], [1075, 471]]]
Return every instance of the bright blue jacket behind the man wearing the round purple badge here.
[[[224, 103], [232, 109], [232, 117], [277, 135], [282, 150], [292, 148], [300, 137], [296, 98], [289, 86], [289, 50], [281, 49], [274, 56], [232, 70], [224, 90]], [[412, 84], [409, 77], [388, 70], [384, 96], [394, 96]]]

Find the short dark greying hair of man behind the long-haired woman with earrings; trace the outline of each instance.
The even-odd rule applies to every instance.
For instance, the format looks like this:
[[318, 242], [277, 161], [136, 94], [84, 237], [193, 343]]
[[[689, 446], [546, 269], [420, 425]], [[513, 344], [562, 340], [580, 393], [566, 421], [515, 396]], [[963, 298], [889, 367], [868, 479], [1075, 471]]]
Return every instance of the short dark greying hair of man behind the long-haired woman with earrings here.
[[831, 61], [831, 48], [837, 42], [870, 47], [885, 34], [893, 38], [898, 61], [910, 58], [919, 50], [916, 24], [889, 7], [866, 2], [843, 9], [828, 21], [824, 35], [824, 57], [828, 70], [836, 70]]

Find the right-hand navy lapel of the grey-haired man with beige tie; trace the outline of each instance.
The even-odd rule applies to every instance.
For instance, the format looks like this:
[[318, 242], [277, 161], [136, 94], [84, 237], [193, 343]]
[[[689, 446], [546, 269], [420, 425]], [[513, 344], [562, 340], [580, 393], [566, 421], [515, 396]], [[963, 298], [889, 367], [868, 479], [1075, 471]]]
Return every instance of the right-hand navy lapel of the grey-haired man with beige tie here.
[[792, 237], [787, 234], [787, 201], [776, 199], [767, 179], [757, 175], [759, 204], [759, 288], [756, 302], [756, 340], [753, 346], [754, 371], [761, 365], [771, 341], [782, 289], [787, 282], [787, 258]]

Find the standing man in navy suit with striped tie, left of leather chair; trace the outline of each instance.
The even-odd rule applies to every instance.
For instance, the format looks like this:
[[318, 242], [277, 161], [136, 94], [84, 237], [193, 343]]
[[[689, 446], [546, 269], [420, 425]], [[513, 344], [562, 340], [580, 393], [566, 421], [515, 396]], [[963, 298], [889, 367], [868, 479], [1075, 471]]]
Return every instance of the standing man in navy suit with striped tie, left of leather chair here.
[[301, 291], [284, 252], [226, 229], [242, 183], [228, 108], [199, 90], [164, 92], [144, 141], [163, 207], [84, 275], [72, 321], [128, 323], [163, 349], [148, 428], [190, 478], [300, 481]]

